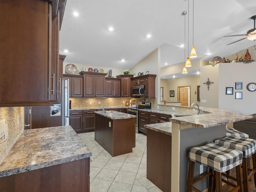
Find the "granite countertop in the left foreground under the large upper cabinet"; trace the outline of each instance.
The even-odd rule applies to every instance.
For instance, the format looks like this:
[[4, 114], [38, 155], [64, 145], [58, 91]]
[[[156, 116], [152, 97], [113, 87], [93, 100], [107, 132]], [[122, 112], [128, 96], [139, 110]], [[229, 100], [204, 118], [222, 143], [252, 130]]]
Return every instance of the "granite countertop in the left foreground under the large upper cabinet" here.
[[92, 156], [71, 126], [24, 130], [0, 164], [0, 177]]

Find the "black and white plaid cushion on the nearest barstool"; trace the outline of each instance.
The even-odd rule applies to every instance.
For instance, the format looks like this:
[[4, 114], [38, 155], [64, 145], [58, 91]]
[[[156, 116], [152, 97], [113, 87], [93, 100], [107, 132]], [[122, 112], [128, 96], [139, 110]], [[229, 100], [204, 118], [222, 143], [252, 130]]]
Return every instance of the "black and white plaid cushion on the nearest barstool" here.
[[240, 150], [221, 146], [214, 142], [191, 148], [188, 156], [191, 161], [221, 173], [241, 164], [243, 158]]

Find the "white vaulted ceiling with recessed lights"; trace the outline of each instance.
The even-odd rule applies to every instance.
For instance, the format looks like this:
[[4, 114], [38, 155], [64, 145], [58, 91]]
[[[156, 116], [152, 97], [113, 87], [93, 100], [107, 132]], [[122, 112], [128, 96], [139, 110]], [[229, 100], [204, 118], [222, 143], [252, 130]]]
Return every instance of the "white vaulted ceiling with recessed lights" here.
[[[69, 63], [125, 69], [160, 47], [160, 67], [184, 62], [192, 46], [192, 2], [189, 0], [188, 9], [188, 0], [67, 0], [60, 54], [66, 55], [65, 62]], [[182, 15], [184, 10], [188, 11], [186, 16]], [[223, 58], [254, 45], [245, 39], [227, 46], [245, 36], [223, 37], [246, 34], [254, 28], [250, 19], [253, 15], [255, 0], [194, 0], [194, 46], [198, 58]], [[179, 47], [184, 44], [185, 17], [186, 53]], [[114, 31], [110, 32], [109, 26]], [[147, 34], [152, 37], [146, 38]], [[123, 58], [125, 62], [121, 62]]]

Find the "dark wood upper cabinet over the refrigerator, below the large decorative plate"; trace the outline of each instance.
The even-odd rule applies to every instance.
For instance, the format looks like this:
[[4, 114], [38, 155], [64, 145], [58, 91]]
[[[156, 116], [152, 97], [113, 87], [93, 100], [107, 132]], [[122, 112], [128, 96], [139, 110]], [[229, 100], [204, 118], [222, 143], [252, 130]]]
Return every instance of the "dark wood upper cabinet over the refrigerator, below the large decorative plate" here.
[[69, 79], [69, 96], [83, 96], [83, 77], [79, 75], [63, 74], [63, 78]]

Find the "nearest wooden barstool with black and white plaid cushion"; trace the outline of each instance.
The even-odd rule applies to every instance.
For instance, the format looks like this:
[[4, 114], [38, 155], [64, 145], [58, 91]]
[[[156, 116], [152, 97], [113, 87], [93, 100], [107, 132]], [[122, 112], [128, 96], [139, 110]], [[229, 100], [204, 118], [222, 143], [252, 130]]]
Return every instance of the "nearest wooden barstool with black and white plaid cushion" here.
[[[218, 145], [214, 142], [204, 146], [193, 147], [189, 150], [189, 170], [187, 192], [192, 190], [201, 192], [193, 186], [196, 182], [209, 176], [208, 192], [212, 192], [213, 178], [216, 178], [216, 190], [222, 192], [222, 181], [233, 186], [232, 190], [242, 192], [242, 152], [240, 150]], [[201, 174], [199, 178], [194, 179], [195, 162], [209, 168], [209, 172]], [[237, 185], [222, 179], [222, 173], [236, 167]], [[227, 175], [226, 177], [229, 178]]]

